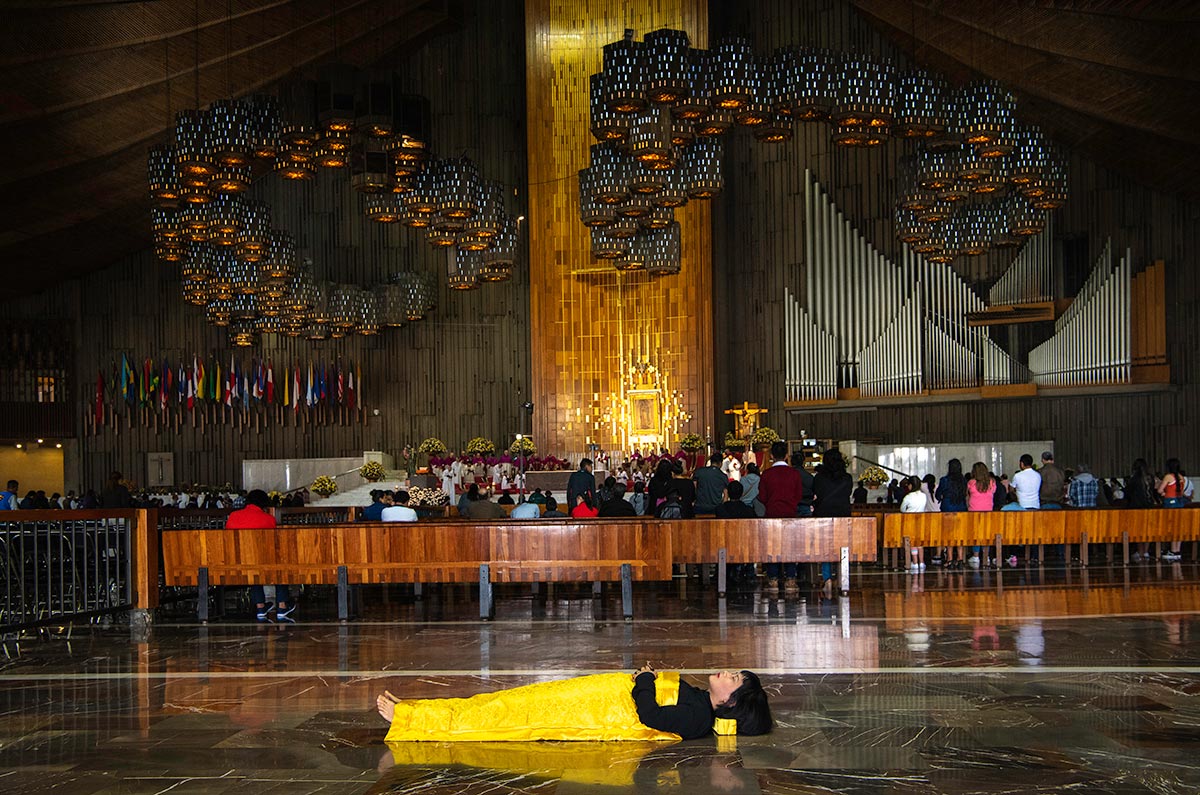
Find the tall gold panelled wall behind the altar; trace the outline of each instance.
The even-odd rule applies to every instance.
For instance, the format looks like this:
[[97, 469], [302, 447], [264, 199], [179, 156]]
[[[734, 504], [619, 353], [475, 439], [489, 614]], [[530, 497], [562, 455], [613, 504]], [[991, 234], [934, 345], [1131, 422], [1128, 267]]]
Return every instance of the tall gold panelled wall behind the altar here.
[[704, 434], [713, 417], [708, 204], [676, 210], [683, 269], [674, 276], [620, 274], [593, 259], [580, 222], [577, 173], [595, 142], [588, 78], [601, 68], [602, 47], [626, 28], [637, 38], [658, 28], [685, 30], [692, 46], [707, 47], [708, 4], [526, 0], [533, 432], [545, 452], [623, 447], [622, 412], [632, 410], [637, 366], [656, 370], [664, 411], [692, 418], [680, 434]]

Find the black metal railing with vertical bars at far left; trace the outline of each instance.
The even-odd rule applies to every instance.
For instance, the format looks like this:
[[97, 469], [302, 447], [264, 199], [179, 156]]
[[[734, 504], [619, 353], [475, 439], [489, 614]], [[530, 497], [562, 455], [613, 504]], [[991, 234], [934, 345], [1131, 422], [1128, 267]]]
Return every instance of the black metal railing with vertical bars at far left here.
[[133, 606], [132, 510], [0, 514], [0, 633]]

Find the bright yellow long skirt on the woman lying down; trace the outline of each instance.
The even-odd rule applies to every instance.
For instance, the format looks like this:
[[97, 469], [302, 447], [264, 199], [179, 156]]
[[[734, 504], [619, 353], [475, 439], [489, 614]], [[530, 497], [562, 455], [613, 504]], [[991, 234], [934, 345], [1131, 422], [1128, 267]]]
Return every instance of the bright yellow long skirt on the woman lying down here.
[[629, 674], [595, 674], [467, 699], [401, 701], [385, 741], [679, 740], [638, 722], [632, 688]]

